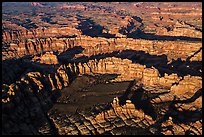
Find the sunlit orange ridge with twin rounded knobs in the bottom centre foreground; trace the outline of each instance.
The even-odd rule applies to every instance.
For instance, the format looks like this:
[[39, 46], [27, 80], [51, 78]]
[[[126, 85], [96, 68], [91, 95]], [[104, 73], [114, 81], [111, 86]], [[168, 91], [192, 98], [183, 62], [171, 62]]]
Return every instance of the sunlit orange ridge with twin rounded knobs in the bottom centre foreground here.
[[[99, 111], [102, 109], [103, 106], [98, 108]], [[130, 126], [129, 128], [136, 127], [135, 130], [137, 130], [137, 128], [145, 128], [154, 123], [154, 120], [145, 115], [142, 110], [135, 109], [130, 100], [120, 106], [118, 98], [114, 98], [112, 106], [107, 111], [98, 114], [81, 112], [69, 117], [66, 114], [60, 116], [55, 112], [50, 112], [49, 115], [60, 135], [98, 135], [107, 132], [112, 135], [120, 135], [124, 130], [121, 128], [125, 125]], [[66, 122], [61, 121], [61, 117], [64, 117]], [[143, 122], [145, 125], [142, 124]], [[146, 134], [151, 133], [147, 131]]]

